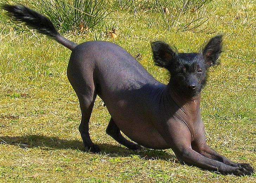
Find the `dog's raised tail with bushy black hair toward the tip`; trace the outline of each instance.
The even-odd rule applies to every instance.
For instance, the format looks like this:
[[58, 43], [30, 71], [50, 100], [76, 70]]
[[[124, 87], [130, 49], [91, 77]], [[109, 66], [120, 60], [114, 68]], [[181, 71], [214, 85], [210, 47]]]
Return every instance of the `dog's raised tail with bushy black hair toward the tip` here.
[[73, 43], [60, 35], [52, 22], [44, 15], [41, 15], [23, 5], [12, 6], [4, 4], [1, 5], [1, 7], [8, 12], [7, 15], [11, 17], [13, 21], [25, 22], [26, 26], [36, 29], [41, 34], [52, 37], [70, 50], [73, 50], [77, 46], [76, 43]]

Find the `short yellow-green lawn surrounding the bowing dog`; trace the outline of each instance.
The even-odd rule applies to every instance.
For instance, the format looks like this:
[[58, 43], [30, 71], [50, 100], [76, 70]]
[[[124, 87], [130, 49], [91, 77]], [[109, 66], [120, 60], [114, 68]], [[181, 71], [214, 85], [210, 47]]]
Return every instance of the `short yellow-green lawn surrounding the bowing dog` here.
[[[163, 83], [168, 73], [153, 64], [149, 41], [165, 40], [180, 52], [190, 52], [213, 35], [224, 34], [222, 64], [210, 69], [202, 93], [207, 143], [255, 168], [255, 1], [209, 2], [200, 8], [207, 18], [201, 31], [166, 29], [156, 10], [137, 7], [138, 15], [111, 2], [107, 7], [114, 11], [103, 28], [65, 37], [77, 43], [107, 40], [133, 56], [139, 53], [139, 62]], [[82, 152], [79, 103], [66, 78], [71, 52], [35, 31], [13, 28], [12, 23], [0, 26], [0, 182], [255, 182], [256, 174], [224, 176], [181, 165], [171, 149], [137, 152], [120, 146], [105, 133], [110, 115], [100, 98], [90, 135], [102, 154]], [[113, 28], [115, 39], [106, 36]]]

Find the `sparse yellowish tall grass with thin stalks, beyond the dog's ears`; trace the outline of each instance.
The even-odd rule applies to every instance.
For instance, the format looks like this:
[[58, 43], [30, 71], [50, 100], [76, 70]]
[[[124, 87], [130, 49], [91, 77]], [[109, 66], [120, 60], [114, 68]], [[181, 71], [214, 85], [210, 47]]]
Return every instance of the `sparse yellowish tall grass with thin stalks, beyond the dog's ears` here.
[[149, 11], [162, 17], [166, 29], [201, 31], [199, 27], [208, 19], [204, 5], [212, 0], [115, 0], [114, 7], [135, 13]]

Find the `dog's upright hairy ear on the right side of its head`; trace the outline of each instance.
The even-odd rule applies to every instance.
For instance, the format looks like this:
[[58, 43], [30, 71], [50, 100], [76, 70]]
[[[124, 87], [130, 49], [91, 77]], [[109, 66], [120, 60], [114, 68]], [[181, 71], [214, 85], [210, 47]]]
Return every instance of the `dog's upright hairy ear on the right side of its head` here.
[[218, 58], [222, 52], [222, 35], [217, 35], [206, 44], [202, 50], [207, 68], [219, 64]]

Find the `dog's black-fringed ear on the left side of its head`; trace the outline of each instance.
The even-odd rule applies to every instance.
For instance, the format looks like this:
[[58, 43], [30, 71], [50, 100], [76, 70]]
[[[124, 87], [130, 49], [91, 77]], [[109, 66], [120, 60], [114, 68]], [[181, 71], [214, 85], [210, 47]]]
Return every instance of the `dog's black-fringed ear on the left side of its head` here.
[[152, 42], [151, 48], [155, 65], [169, 69], [171, 63], [175, 59], [177, 50], [171, 48], [167, 43], [162, 41]]

